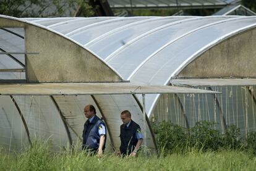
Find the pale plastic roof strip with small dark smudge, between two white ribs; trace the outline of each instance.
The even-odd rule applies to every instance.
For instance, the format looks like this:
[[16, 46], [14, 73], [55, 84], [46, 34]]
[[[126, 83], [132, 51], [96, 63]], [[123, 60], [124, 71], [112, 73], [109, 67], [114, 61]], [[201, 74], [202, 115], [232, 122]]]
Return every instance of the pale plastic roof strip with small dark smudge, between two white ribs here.
[[[138, 36], [141, 37], [141, 35], [147, 34], [147, 31], [153, 30], [161, 25], [189, 18], [191, 17], [161, 17], [130, 23], [129, 25], [116, 28], [105, 35], [90, 41], [85, 44], [85, 47], [98, 54], [101, 59], [106, 60], [106, 57], [111, 56], [111, 54], [116, 52], [117, 49], [122, 49], [124, 45], [127, 46], [127, 44], [130, 44], [132, 40], [137, 39]], [[136, 56], [135, 53], [134, 55]]]

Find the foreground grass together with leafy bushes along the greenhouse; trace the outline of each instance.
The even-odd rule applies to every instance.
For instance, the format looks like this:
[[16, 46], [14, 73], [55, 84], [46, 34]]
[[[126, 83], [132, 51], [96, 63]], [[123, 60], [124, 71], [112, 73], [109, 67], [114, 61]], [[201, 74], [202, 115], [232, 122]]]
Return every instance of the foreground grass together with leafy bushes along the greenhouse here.
[[0, 147], [0, 170], [255, 170], [256, 133], [245, 140], [238, 128], [221, 134], [210, 122], [189, 130], [162, 122], [155, 133], [158, 156], [142, 149], [137, 157], [98, 158], [80, 151], [79, 144], [54, 153], [49, 141], [34, 141], [22, 153], [7, 154]]

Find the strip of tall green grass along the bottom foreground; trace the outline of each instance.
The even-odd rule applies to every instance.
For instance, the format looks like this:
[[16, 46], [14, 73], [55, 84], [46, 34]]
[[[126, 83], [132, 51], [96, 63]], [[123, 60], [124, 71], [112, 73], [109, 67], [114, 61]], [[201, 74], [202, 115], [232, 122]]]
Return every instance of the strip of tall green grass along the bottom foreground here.
[[255, 170], [256, 157], [242, 151], [200, 152], [166, 156], [102, 158], [80, 151], [49, 152], [48, 144], [35, 143], [22, 154], [1, 154], [0, 170]]

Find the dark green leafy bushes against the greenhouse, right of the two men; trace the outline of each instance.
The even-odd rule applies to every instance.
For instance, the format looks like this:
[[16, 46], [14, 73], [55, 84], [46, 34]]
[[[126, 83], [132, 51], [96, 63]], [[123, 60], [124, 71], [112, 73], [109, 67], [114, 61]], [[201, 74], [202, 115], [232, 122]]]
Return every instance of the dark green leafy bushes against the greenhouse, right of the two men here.
[[[183, 154], [190, 151], [205, 152], [222, 149], [250, 149], [256, 154], [256, 133], [250, 133], [246, 141], [242, 139], [239, 128], [234, 125], [229, 126], [224, 134], [215, 127], [216, 123], [207, 121], [197, 122], [189, 130], [171, 122], [153, 124], [158, 148], [163, 155], [173, 152]], [[245, 146], [246, 143], [247, 146]]]

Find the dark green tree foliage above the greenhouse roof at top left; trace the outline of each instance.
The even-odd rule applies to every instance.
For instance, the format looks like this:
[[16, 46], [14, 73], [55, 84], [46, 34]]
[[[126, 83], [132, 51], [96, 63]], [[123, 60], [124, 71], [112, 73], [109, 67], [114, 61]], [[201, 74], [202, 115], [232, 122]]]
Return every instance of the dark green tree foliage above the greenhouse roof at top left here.
[[0, 14], [13, 17], [74, 17], [77, 10], [92, 16], [88, 0], [1, 0]]

